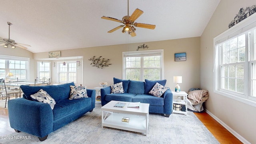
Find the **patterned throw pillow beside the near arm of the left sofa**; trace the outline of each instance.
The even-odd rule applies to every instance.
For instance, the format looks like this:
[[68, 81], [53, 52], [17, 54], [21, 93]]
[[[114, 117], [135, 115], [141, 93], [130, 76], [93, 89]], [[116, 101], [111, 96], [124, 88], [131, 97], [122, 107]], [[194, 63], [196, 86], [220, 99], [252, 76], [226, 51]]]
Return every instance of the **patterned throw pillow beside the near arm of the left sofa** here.
[[55, 100], [46, 91], [42, 89], [35, 94], [31, 94], [30, 96], [35, 101], [49, 104], [52, 110], [54, 108], [54, 105], [56, 104]]

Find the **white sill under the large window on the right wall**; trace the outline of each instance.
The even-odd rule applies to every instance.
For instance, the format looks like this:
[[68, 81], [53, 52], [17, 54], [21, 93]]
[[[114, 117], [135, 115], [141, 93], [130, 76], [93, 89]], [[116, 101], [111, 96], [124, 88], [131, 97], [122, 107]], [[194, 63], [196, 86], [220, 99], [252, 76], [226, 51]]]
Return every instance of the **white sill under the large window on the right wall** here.
[[233, 100], [237, 100], [238, 102], [242, 102], [242, 103], [244, 103], [244, 104], [248, 104], [248, 105], [250, 105], [250, 106], [256, 107], [256, 102], [254, 102], [254, 101], [252, 101], [252, 100], [248, 100], [248, 99], [246, 99], [246, 98], [241, 98], [241, 97], [239, 97], [239, 96], [235, 96], [235, 95], [232, 95], [232, 94], [228, 94], [228, 93], [226, 93], [226, 92], [222, 92], [222, 91], [219, 91], [219, 90], [214, 90], [214, 93], [220, 94], [220, 95], [222, 95], [222, 96], [226, 96], [226, 97], [231, 98], [231, 99], [233, 99]]

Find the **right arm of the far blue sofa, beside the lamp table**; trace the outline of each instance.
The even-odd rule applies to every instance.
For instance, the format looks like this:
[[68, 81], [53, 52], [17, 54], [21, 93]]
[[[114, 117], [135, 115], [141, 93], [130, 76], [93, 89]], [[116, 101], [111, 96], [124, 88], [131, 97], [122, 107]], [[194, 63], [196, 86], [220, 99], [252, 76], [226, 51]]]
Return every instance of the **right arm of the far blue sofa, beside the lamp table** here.
[[172, 114], [172, 91], [170, 89], [164, 92], [164, 114]]

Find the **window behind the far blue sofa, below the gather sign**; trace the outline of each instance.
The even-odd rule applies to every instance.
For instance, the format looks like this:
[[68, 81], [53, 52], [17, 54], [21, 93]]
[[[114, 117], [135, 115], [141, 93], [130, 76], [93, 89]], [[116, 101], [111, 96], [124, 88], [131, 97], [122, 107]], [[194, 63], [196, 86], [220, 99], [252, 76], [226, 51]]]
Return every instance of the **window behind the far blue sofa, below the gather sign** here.
[[123, 79], [162, 80], [162, 55], [163, 50], [123, 52]]

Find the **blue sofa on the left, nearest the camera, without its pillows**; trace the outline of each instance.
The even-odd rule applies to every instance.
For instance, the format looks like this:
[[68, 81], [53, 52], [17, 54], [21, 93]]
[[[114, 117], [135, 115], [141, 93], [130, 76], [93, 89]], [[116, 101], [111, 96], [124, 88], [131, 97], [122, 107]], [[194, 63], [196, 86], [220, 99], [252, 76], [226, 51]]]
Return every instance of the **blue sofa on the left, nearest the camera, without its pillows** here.
[[[26, 132], [46, 140], [48, 134], [80, 118], [95, 108], [95, 90], [87, 89], [88, 98], [69, 100], [70, 85], [20, 86], [23, 98], [8, 101], [8, 113], [11, 128], [16, 132]], [[40, 89], [46, 91], [56, 104], [52, 109], [49, 104], [36, 102], [30, 97]]]

